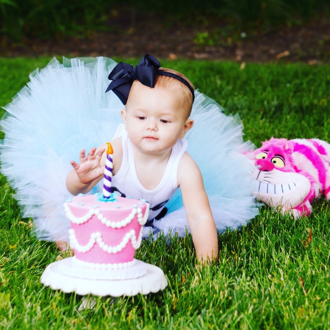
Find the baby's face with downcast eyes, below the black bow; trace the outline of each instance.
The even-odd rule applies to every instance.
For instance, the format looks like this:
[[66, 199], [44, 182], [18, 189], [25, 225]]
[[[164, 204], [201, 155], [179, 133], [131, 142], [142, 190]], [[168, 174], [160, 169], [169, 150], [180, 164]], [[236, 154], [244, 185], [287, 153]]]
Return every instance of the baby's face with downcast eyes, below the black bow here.
[[169, 151], [193, 123], [186, 119], [178, 96], [140, 82], [134, 84], [122, 118], [132, 144], [148, 154]]

